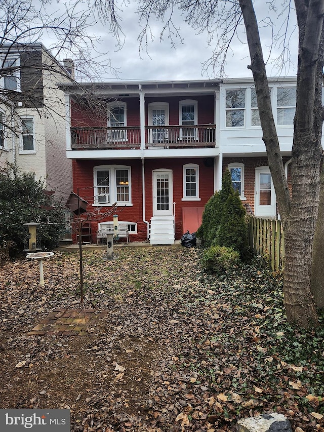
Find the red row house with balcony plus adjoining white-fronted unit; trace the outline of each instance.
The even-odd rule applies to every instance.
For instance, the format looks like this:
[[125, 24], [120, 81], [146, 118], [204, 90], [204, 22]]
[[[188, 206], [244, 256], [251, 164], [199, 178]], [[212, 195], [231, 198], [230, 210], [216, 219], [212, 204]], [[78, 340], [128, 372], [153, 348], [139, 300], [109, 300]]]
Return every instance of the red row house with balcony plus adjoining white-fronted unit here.
[[[269, 83], [289, 177], [296, 78]], [[252, 79], [59, 88], [70, 113], [66, 154], [73, 190], [98, 213], [117, 202], [131, 241], [172, 244], [187, 229], [195, 231], [227, 168], [246, 208], [276, 217]], [[93, 221], [92, 242], [97, 229]]]

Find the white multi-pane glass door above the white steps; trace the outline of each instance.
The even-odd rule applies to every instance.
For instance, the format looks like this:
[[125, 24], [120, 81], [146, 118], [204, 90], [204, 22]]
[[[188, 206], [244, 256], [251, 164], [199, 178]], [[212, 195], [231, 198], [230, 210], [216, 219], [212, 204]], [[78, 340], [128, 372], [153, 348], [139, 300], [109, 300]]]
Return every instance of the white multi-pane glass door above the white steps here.
[[172, 214], [172, 171], [153, 171], [153, 216], [172, 216]]

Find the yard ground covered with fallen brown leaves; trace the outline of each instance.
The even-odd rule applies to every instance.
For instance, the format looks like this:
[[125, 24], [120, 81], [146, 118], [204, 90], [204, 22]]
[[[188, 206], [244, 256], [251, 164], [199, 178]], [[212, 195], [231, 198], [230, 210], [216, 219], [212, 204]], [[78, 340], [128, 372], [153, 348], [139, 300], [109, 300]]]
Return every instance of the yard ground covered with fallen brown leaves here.
[[[220, 278], [199, 249], [84, 251], [89, 336], [29, 336], [78, 299], [78, 254], [0, 268], [1, 408], [70, 408], [71, 431], [227, 431], [279, 412], [324, 430], [323, 325], [286, 323], [282, 287], [257, 263]], [[75, 305], [74, 305], [75, 308]]]

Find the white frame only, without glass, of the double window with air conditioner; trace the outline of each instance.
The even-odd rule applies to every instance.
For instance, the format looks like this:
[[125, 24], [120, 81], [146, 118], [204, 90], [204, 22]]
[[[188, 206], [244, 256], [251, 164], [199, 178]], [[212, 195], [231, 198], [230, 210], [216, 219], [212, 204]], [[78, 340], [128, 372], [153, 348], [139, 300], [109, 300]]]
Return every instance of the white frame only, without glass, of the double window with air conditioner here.
[[[127, 170], [128, 171], [128, 187], [129, 187], [129, 200], [128, 201], [117, 201], [117, 185], [116, 185], [116, 171]], [[98, 197], [98, 186], [97, 185], [97, 172], [108, 171], [109, 172], [109, 202], [100, 203], [97, 201]], [[93, 184], [94, 184], [94, 207], [111, 206], [114, 203], [123, 206], [133, 206], [132, 204], [132, 176], [131, 167], [127, 165], [98, 165], [93, 170]]]

